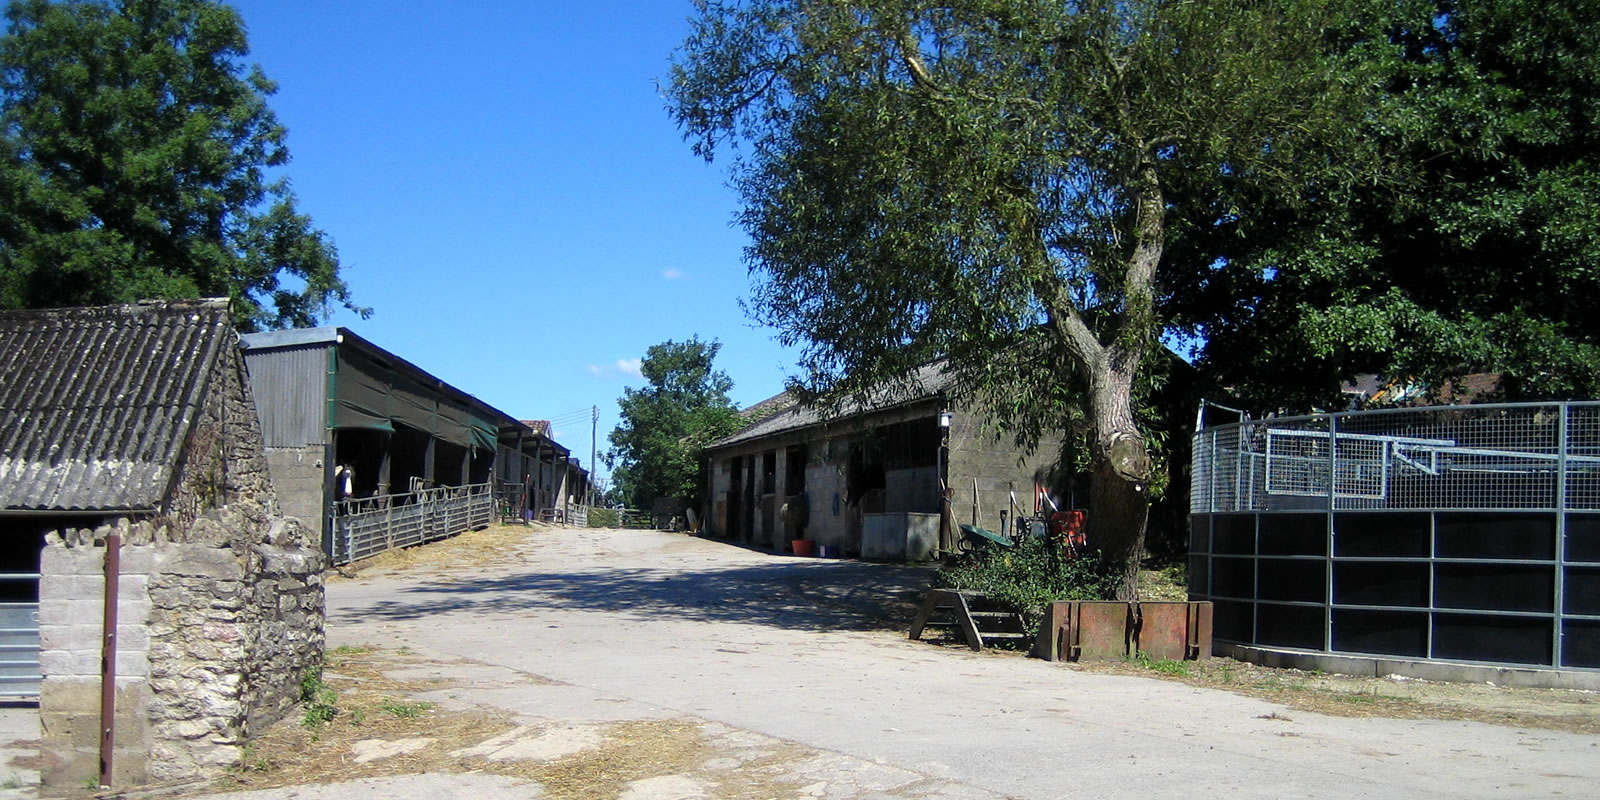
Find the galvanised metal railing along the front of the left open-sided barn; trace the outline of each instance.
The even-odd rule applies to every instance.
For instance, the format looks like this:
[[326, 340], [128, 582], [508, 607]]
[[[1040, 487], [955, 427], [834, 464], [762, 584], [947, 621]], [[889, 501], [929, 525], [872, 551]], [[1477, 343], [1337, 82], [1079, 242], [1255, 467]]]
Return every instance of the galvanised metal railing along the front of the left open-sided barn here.
[[333, 563], [358, 562], [493, 522], [494, 494], [488, 483], [344, 499], [333, 517]]

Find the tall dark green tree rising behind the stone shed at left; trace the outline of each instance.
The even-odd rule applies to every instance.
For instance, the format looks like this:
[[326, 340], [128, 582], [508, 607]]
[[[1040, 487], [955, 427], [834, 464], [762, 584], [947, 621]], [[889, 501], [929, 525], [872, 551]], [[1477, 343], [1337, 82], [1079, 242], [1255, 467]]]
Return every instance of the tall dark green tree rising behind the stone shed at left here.
[[18, 0], [0, 38], [0, 307], [227, 296], [242, 328], [350, 304], [296, 210], [275, 86], [208, 0]]

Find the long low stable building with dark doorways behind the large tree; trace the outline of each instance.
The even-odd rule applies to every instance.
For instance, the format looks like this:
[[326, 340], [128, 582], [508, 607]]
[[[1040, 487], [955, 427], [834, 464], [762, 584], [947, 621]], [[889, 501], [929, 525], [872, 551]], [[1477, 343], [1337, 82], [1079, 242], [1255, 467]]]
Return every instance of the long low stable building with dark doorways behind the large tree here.
[[[1035, 486], [1075, 499], [1072, 477], [1059, 469], [1059, 437], [1032, 451], [1002, 440], [981, 408], [949, 397], [950, 379], [938, 366], [912, 386], [834, 414], [789, 395], [752, 406], [752, 424], [706, 448], [710, 533], [773, 549], [800, 539], [842, 555], [922, 562], [952, 546], [954, 525], [1002, 531], [1018, 514], [1032, 515]], [[950, 520], [941, 525], [946, 488]]]

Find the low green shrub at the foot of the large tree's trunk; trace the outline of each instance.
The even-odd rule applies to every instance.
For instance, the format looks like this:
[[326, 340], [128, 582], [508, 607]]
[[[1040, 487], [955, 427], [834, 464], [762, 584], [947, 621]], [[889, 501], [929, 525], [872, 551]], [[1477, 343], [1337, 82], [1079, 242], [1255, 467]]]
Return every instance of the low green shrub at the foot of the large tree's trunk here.
[[1114, 600], [1122, 586], [1122, 566], [1099, 550], [1067, 558], [1050, 538], [1022, 538], [1013, 547], [987, 546], [934, 573], [936, 589], [982, 592], [1022, 614], [1030, 634], [1038, 632], [1045, 606], [1053, 600]]

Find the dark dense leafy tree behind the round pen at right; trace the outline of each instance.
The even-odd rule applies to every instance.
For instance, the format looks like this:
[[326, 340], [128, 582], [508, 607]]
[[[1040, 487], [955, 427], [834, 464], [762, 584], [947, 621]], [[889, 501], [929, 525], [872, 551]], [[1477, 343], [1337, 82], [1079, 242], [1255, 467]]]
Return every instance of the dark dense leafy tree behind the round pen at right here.
[[1227, 205], [1250, 211], [1176, 245], [1221, 261], [1171, 318], [1262, 408], [1330, 403], [1357, 373], [1600, 395], [1600, 5], [1371, 8], [1392, 46], [1362, 51], [1384, 93], [1360, 133], [1386, 179], [1285, 208], [1237, 176]]

